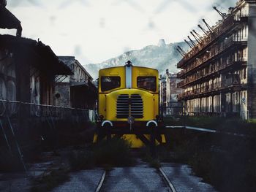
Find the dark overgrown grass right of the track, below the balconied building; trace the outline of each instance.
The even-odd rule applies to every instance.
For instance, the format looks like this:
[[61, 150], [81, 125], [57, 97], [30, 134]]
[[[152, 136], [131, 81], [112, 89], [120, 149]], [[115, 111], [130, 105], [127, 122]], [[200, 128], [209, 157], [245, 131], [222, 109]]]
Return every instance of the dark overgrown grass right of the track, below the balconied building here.
[[[169, 122], [170, 123], [170, 122]], [[218, 134], [169, 130], [170, 161], [186, 163], [193, 172], [219, 191], [255, 191], [256, 124], [233, 118], [194, 117], [187, 125], [216, 128]], [[224, 134], [235, 132], [249, 137]]]

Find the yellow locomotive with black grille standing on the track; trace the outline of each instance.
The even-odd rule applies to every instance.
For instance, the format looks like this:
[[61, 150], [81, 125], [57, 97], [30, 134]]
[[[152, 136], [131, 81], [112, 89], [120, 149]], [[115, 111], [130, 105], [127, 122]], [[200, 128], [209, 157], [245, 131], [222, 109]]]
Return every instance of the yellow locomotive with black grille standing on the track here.
[[157, 69], [116, 66], [99, 70], [97, 134], [123, 137], [132, 147], [165, 142], [159, 116], [159, 73]]

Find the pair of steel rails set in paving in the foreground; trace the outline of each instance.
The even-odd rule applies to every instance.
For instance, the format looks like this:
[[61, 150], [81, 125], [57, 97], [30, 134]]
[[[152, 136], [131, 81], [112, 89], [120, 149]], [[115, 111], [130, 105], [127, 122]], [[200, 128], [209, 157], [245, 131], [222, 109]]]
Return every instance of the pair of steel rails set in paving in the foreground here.
[[[154, 168], [151, 168], [151, 169], [154, 169]], [[167, 177], [167, 175], [165, 174], [163, 169], [158, 168], [158, 169], [155, 169], [155, 171], [157, 171], [160, 178], [163, 178], [163, 180], [165, 181], [164, 183], [165, 183], [166, 187], [168, 188], [167, 191], [176, 192], [176, 188], [174, 188], [173, 184], [171, 183], [171, 181], [169, 180], [169, 178]], [[99, 180], [99, 184], [97, 186], [96, 192], [103, 191], [102, 189], [103, 189], [103, 185], [105, 184], [106, 177], [108, 177], [108, 173], [106, 171], [104, 171], [101, 179]], [[162, 180], [159, 180], [159, 183], [162, 183]], [[108, 188], [105, 188], [105, 191], [108, 191]], [[111, 191], [111, 190], [109, 190], [109, 191]], [[144, 190], [141, 189], [141, 191], [144, 191]], [[145, 191], [148, 191], [148, 190], [145, 189]]]

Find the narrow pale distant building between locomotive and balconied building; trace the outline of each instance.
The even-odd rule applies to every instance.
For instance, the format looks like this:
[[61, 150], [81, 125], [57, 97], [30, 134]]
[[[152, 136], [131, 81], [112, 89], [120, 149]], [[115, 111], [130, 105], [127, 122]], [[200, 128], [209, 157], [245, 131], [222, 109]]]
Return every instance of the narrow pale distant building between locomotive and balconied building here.
[[166, 69], [166, 74], [160, 77], [160, 104], [164, 115], [178, 115], [181, 111], [181, 103], [178, 102], [178, 94], [182, 93], [181, 88], [177, 88], [177, 83], [180, 82], [177, 74], [169, 73]]

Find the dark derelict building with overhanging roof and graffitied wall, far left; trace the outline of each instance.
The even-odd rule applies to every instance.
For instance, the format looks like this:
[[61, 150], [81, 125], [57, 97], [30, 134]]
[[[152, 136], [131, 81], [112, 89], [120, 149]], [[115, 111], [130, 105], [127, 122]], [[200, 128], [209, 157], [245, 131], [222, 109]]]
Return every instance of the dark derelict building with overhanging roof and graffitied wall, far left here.
[[0, 28], [16, 28], [17, 36], [0, 35], [0, 99], [53, 104], [54, 77], [72, 74], [40, 41], [21, 37], [20, 20], [0, 1]]

